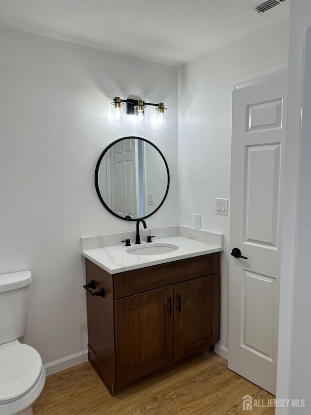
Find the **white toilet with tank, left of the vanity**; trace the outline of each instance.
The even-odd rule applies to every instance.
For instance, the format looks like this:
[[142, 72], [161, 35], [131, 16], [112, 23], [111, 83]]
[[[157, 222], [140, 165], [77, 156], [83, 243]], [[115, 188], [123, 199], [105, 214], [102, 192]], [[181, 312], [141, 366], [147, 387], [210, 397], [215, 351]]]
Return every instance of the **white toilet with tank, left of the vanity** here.
[[31, 271], [0, 275], [0, 414], [32, 415], [46, 378], [39, 353], [17, 339], [26, 333]]

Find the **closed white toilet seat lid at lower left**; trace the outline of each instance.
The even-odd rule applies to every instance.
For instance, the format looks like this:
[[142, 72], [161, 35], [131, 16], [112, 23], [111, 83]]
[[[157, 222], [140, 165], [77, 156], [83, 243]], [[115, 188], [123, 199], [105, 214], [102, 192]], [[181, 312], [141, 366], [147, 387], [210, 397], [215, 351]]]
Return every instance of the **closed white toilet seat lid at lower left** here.
[[42, 373], [39, 353], [15, 340], [0, 345], [0, 405], [25, 396]]

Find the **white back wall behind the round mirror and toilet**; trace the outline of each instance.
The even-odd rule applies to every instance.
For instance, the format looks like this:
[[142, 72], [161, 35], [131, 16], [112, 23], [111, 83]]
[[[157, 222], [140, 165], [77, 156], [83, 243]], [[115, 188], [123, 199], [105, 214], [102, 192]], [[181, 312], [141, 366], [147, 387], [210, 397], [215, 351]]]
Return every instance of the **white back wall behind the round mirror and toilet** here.
[[[25, 341], [49, 363], [87, 348], [80, 236], [135, 229], [97, 197], [106, 145], [138, 135], [161, 149], [171, 187], [146, 222], [176, 224], [178, 70], [11, 29], [0, 39], [0, 273], [33, 272]], [[168, 127], [112, 126], [110, 102], [131, 94], [164, 102]]]

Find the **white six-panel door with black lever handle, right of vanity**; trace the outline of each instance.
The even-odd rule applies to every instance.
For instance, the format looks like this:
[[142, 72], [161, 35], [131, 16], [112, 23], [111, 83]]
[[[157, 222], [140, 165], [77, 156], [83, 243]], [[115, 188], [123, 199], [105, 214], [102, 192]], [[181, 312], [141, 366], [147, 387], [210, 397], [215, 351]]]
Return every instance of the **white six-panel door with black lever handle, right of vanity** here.
[[276, 394], [287, 76], [233, 92], [228, 367]]

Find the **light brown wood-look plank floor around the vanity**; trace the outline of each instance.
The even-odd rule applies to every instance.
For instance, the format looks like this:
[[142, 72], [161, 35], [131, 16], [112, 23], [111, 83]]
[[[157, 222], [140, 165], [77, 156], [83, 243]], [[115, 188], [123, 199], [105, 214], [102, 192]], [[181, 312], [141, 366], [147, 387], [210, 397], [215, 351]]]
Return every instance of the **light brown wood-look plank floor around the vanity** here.
[[208, 353], [111, 397], [89, 362], [48, 376], [34, 415], [235, 415], [245, 414], [242, 397], [265, 407], [252, 415], [273, 415], [273, 395], [227, 368], [227, 361]]

